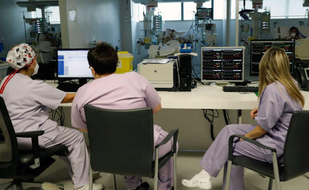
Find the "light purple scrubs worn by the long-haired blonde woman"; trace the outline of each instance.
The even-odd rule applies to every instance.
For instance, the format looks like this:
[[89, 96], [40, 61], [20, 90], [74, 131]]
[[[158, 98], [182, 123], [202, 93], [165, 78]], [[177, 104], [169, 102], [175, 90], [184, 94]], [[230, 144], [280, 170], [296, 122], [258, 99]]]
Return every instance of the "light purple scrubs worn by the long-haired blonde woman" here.
[[[264, 130], [268, 131], [268, 133], [257, 138], [256, 141], [275, 148], [280, 163], [282, 163], [284, 142], [291, 116], [294, 111], [298, 110], [302, 110], [302, 106], [291, 99], [286, 88], [281, 83], [271, 83], [263, 90], [260, 97], [259, 110], [255, 120], [257, 124]], [[214, 177], [216, 177], [221, 168], [225, 166], [223, 189], [225, 186], [224, 181], [226, 177], [229, 137], [235, 134], [245, 135], [255, 127], [256, 125], [247, 124], [227, 125], [220, 131], [200, 161], [202, 168]], [[270, 150], [257, 147], [247, 141], [238, 141], [235, 139], [235, 142], [233, 156], [243, 155], [272, 163], [272, 154]], [[243, 167], [232, 167], [230, 190], [243, 189]]]

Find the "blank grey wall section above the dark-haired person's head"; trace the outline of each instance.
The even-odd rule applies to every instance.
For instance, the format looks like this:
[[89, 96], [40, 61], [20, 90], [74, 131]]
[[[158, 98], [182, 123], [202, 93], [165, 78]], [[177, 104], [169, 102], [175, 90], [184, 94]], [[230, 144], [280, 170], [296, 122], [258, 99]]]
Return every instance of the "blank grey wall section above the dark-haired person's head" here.
[[60, 8], [61, 24], [64, 19], [68, 20], [70, 10], [76, 10], [76, 21], [68, 20], [67, 28], [61, 26], [62, 36], [68, 36], [64, 47], [91, 47], [93, 36], [113, 47], [120, 46], [120, 0], [60, 0], [59, 4], [64, 6]]

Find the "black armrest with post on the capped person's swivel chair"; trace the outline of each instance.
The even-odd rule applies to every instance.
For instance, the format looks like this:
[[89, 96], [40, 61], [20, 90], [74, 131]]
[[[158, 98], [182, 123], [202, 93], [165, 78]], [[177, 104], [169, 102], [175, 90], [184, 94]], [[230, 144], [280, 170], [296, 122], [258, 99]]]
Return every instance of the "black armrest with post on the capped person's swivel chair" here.
[[15, 133], [16, 137], [31, 138], [32, 152], [34, 159], [39, 158], [39, 136], [44, 134], [44, 131], [26, 131]]

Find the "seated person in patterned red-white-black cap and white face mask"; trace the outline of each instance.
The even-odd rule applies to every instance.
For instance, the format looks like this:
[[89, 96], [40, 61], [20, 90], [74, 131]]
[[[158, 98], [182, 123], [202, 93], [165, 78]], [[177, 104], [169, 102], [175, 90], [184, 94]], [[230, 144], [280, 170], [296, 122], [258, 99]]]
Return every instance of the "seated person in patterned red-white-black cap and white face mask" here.
[[[36, 55], [28, 44], [15, 46], [8, 52], [6, 62], [15, 71], [6, 76], [1, 83], [0, 96], [4, 99], [15, 132], [45, 131], [39, 136], [41, 147], [57, 144], [66, 145], [69, 154], [61, 157], [69, 168], [74, 188], [88, 190], [89, 158], [82, 132], [68, 127], [57, 126], [49, 119], [47, 108], [56, 109], [60, 103], [70, 103], [74, 94], [67, 94], [49, 84], [32, 80], [31, 75], [38, 72]], [[19, 149], [30, 149], [31, 139], [18, 138]], [[103, 184], [95, 184], [100, 190]]]

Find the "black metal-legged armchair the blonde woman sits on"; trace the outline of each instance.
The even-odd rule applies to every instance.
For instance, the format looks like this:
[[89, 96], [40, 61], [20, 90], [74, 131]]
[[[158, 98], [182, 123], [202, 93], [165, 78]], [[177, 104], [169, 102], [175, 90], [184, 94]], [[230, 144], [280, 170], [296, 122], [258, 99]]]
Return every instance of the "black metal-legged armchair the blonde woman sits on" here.
[[[229, 159], [227, 165], [225, 190], [229, 189], [231, 168], [233, 164], [243, 166], [258, 172], [263, 176], [269, 177], [269, 190], [273, 187], [273, 179], [275, 179], [276, 189], [281, 190], [280, 181], [288, 181], [307, 173], [309, 171], [308, 118], [309, 111], [295, 111], [293, 113], [284, 144], [284, 165], [282, 166], [278, 166], [276, 149], [267, 147], [255, 140], [248, 139], [241, 135], [231, 135], [229, 138]], [[271, 150], [273, 155], [273, 164], [255, 160], [247, 156], [233, 157], [233, 140], [235, 137], [242, 138], [261, 148]]]

